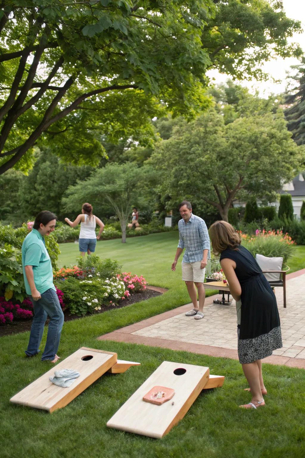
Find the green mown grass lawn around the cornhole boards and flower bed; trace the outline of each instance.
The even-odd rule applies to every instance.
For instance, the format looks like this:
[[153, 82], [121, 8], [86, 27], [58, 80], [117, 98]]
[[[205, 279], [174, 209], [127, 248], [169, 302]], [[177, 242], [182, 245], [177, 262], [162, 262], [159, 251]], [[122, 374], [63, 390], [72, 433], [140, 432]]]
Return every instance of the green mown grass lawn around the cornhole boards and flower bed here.
[[[124, 374], [104, 375], [64, 409], [53, 414], [9, 403], [9, 398], [50, 369], [39, 357], [26, 359], [29, 333], [2, 337], [1, 457], [25, 458], [303, 458], [305, 456], [304, 370], [264, 365], [268, 388], [265, 408], [241, 410], [249, 400], [238, 361], [144, 345], [98, 341], [118, 327], [185, 303], [187, 294], [178, 266], [171, 272], [177, 233], [99, 242], [97, 254], [118, 259], [123, 269], [143, 274], [150, 284], [169, 288], [157, 298], [66, 322], [59, 354], [67, 357], [81, 346], [115, 351], [118, 358], [141, 362]], [[294, 267], [303, 268], [303, 247], [295, 247]], [[60, 263], [75, 262], [78, 245], [61, 245]], [[294, 267], [292, 267], [292, 265]], [[203, 330], [204, 332], [204, 330]], [[45, 333], [46, 334], [46, 333]], [[44, 334], [43, 344], [46, 335]], [[221, 388], [203, 392], [184, 419], [161, 440], [108, 429], [107, 420], [163, 360], [209, 366], [225, 375]], [[161, 408], [160, 408], [161, 409]]]

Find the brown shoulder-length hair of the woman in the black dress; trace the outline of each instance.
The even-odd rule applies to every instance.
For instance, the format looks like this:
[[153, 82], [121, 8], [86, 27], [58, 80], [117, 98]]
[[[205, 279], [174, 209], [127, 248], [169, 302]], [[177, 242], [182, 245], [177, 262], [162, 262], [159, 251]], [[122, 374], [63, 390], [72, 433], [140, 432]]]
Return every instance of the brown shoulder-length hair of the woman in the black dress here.
[[235, 250], [241, 244], [241, 236], [226, 221], [216, 221], [209, 228], [213, 253], [218, 256], [226, 248]]

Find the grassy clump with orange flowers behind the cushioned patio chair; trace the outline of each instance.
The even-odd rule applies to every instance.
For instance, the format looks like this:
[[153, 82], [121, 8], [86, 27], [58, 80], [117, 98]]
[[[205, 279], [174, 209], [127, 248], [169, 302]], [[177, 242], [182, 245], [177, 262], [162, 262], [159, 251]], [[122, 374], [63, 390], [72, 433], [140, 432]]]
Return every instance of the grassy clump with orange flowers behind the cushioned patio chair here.
[[256, 235], [253, 236], [241, 234], [241, 243], [254, 257], [256, 254], [282, 257], [284, 264], [292, 256], [293, 245], [295, 245], [288, 233], [284, 234], [279, 230], [267, 232], [264, 229], [262, 231], [257, 229]]

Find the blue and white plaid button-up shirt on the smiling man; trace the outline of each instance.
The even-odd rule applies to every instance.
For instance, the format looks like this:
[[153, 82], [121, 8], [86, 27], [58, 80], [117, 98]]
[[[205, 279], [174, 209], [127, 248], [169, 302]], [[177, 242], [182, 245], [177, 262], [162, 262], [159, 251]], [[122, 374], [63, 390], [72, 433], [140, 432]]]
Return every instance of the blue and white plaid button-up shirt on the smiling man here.
[[202, 218], [192, 213], [187, 223], [184, 222], [184, 219], [180, 219], [178, 229], [178, 248], [185, 248], [183, 262], [201, 261], [203, 258], [203, 250], [209, 250], [208, 259], [210, 259], [209, 232]]

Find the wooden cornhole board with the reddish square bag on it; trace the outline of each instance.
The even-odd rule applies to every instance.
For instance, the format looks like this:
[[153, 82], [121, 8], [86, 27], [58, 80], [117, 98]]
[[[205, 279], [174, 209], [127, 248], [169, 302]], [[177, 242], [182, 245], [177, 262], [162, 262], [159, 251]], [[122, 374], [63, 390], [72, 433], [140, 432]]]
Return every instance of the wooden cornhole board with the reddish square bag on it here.
[[[220, 387], [225, 377], [209, 376], [209, 367], [163, 363], [107, 422], [109, 428], [160, 438], [187, 413], [201, 390]], [[167, 387], [174, 396], [161, 405], [143, 401], [154, 387]]]

